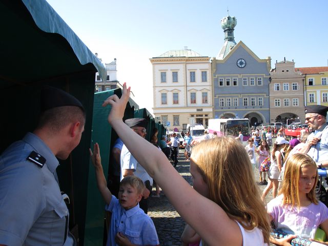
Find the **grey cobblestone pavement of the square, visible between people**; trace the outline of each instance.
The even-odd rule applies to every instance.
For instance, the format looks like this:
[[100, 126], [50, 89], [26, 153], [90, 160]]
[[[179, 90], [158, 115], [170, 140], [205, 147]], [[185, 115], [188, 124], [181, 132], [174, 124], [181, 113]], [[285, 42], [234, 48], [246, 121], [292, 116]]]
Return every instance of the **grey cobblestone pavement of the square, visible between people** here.
[[[191, 184], [189, 161], [185, 161], [183, 150], [179, 150], [178, 160], [177, 171]], [[256, 181], [258, 181], [257, 169], [255, 169], [254, 175]], [[259, 185], [259, 188], [263, 191], [265, 186]], [[272, 199], [272, 191], [267, 196], [267, 201], [270, 199]], [[160, 245], [181, 245], [180, 236], [185, 228], [185, 221], [175, 211], [163, 191], [160, 192], [159, 198], [149, 198], [148, 215], [154, 221]]]

